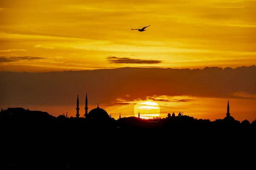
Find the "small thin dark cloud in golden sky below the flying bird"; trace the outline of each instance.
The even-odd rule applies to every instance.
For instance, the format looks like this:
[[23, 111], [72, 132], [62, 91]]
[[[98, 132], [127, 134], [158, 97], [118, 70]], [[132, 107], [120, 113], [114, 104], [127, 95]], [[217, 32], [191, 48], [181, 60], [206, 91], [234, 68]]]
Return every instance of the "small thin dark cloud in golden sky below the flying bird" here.
[[128, 57], [107, 57], [109, 63], [117, 64], [160, 64], [163, 61], [153, 59], [132, 59]]

